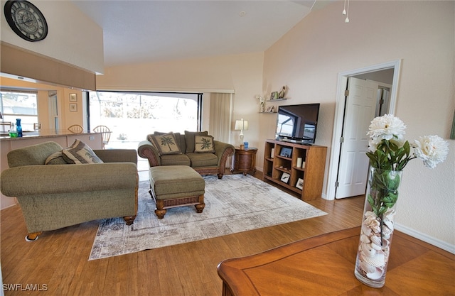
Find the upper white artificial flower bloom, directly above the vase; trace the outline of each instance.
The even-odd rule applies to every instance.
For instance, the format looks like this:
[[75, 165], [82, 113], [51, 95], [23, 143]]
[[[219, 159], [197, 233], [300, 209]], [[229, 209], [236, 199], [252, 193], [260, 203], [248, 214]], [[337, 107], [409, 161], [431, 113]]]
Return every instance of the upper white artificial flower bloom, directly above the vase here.
[[370, 137], [369, 149], [375, 152], [382, 140], [393, 141], [399, 147], [405, 143], [405, 123], [391, 114], [378, 116], [371, 121], [367, 136]]

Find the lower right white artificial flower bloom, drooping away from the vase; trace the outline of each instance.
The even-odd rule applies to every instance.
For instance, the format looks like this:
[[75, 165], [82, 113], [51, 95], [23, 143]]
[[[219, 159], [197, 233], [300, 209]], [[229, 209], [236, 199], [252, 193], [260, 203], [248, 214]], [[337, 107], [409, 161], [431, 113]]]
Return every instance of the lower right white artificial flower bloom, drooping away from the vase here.
[[414, 143], [415, 155], [427, 168], [434, 168], [438, 163], [442, 163], [449, 153], [449, 143], [439, 136], [419, 137], [419, 140], [414, 140]]

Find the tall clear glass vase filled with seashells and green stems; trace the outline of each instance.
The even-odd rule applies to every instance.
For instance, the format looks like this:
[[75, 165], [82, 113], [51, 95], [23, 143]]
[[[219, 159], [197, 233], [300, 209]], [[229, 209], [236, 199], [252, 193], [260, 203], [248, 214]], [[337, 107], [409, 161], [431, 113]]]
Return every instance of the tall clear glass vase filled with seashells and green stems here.
[[402, 171], [371, 168], [365, 193], [355, 278], [382, 287], [389, 262]]

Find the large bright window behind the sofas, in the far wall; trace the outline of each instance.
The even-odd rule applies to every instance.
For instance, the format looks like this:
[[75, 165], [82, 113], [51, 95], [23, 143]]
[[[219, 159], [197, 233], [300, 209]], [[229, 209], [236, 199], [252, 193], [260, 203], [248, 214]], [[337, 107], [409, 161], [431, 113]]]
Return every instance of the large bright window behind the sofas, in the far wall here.
[[202, 94], [89, 92], [90, 129], [107, 126], [106, 148], [137, 148], [146, 135], [198, 131]]

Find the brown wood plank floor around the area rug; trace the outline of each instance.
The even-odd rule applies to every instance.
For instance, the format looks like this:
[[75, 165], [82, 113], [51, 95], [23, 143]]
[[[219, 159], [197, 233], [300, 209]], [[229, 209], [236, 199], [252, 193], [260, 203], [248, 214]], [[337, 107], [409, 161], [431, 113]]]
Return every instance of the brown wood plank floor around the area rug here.
[[[257, 172], [257, 177], [261, 177]], [[221, 295], [217, 265], [331, 231], [360, 225], [363, 197], [309, 204], [326, 216], [124, 256], [87, 261], [99, 221], [44, 232], [26, 242], [18, 205], [1, 211], [5, 295]]]

